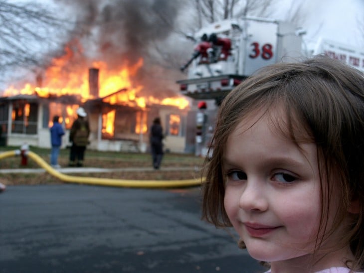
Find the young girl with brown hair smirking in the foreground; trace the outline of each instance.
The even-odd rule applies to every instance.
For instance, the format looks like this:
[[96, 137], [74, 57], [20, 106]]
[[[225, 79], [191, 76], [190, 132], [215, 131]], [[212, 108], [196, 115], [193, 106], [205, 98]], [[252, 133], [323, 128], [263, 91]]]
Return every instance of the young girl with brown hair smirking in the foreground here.
[[220, 106], [202, 217], [269, 272], [364, 269], [364, 75], [320, 56], [263, 68]]

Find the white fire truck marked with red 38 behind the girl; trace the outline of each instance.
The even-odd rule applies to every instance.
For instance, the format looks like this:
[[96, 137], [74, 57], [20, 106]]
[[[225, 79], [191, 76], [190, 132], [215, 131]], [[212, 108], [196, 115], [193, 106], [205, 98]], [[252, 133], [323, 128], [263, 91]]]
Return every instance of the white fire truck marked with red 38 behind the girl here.
[[[326, 54], [364, 71], [363, 49], [319, 40], [315, 49], [308, 50], [302, 39], [305, 33], [289, 22], [244, 17], [215, 22], [190, 35], [192, 56], [181, 67], [187, 77], [178, 81], [181, 93], [194, 99], [196, 106], [187, 116], [190, 122], [194, 119], [195, 130], [187, 130], [186, 135], [195, 133], [186, 137], [186, 147], [193, 147], [196, 155], [206, 155], [222, 99], [263, 66]], [[204, 100], [215, 105], [208, 108], [201, 103]]]

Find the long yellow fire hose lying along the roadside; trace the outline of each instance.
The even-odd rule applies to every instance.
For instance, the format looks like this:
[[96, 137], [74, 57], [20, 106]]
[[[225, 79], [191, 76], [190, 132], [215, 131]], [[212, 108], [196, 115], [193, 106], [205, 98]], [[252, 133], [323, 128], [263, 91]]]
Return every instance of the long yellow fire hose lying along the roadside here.
[[[0, 153], [0, 159], [16, 156], [20, 154], [20, 150], [5, 151]], [[111, 187], [130, 187], [130, 188], [179, 188], [192, 187], [201, 184], [201, 178], [186, 179], [186, 180], [126, 180], [126, 179], [111, 179], [97, 177], [82, 177], [63, 174], [53, 169], [39, 155], [32, 151], [26, 151], [26, 155], [33, 159], [40, 167], [45, 169], [49, 174], [55, 176], [61, 181], [68, 183], [91, 184]]]

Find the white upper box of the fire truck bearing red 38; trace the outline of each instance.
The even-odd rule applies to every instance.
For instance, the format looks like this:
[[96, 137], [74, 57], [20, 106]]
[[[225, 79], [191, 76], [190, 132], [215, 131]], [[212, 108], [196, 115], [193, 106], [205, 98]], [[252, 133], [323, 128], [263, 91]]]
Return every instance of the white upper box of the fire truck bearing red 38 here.
[[[182, 94], [193, 99], [219, 101], [257, 69], [282, 59], [298, 60], [303, 56], [302, 35], [287, 22], [256, 17], [223, 20], [196, 32], [193, 35], [195, 46], [203, 43], [204, 34], [208, 37], [212, 33], [231, 41], [230, 53], [224, 60], [201, 62], [200, 54], [187, 62], [184, 67], [189, 65], [187, 79], [178, 83]], [[218, 47], [208, 50], [219, 50]]]

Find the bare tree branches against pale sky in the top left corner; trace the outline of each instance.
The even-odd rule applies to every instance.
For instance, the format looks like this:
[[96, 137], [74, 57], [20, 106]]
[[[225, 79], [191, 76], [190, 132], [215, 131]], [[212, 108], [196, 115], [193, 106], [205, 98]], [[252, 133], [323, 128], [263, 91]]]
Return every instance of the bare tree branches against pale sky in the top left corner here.
[[0, 0], [0, 71], [39, 64], [64, 23], [39, 3]]

